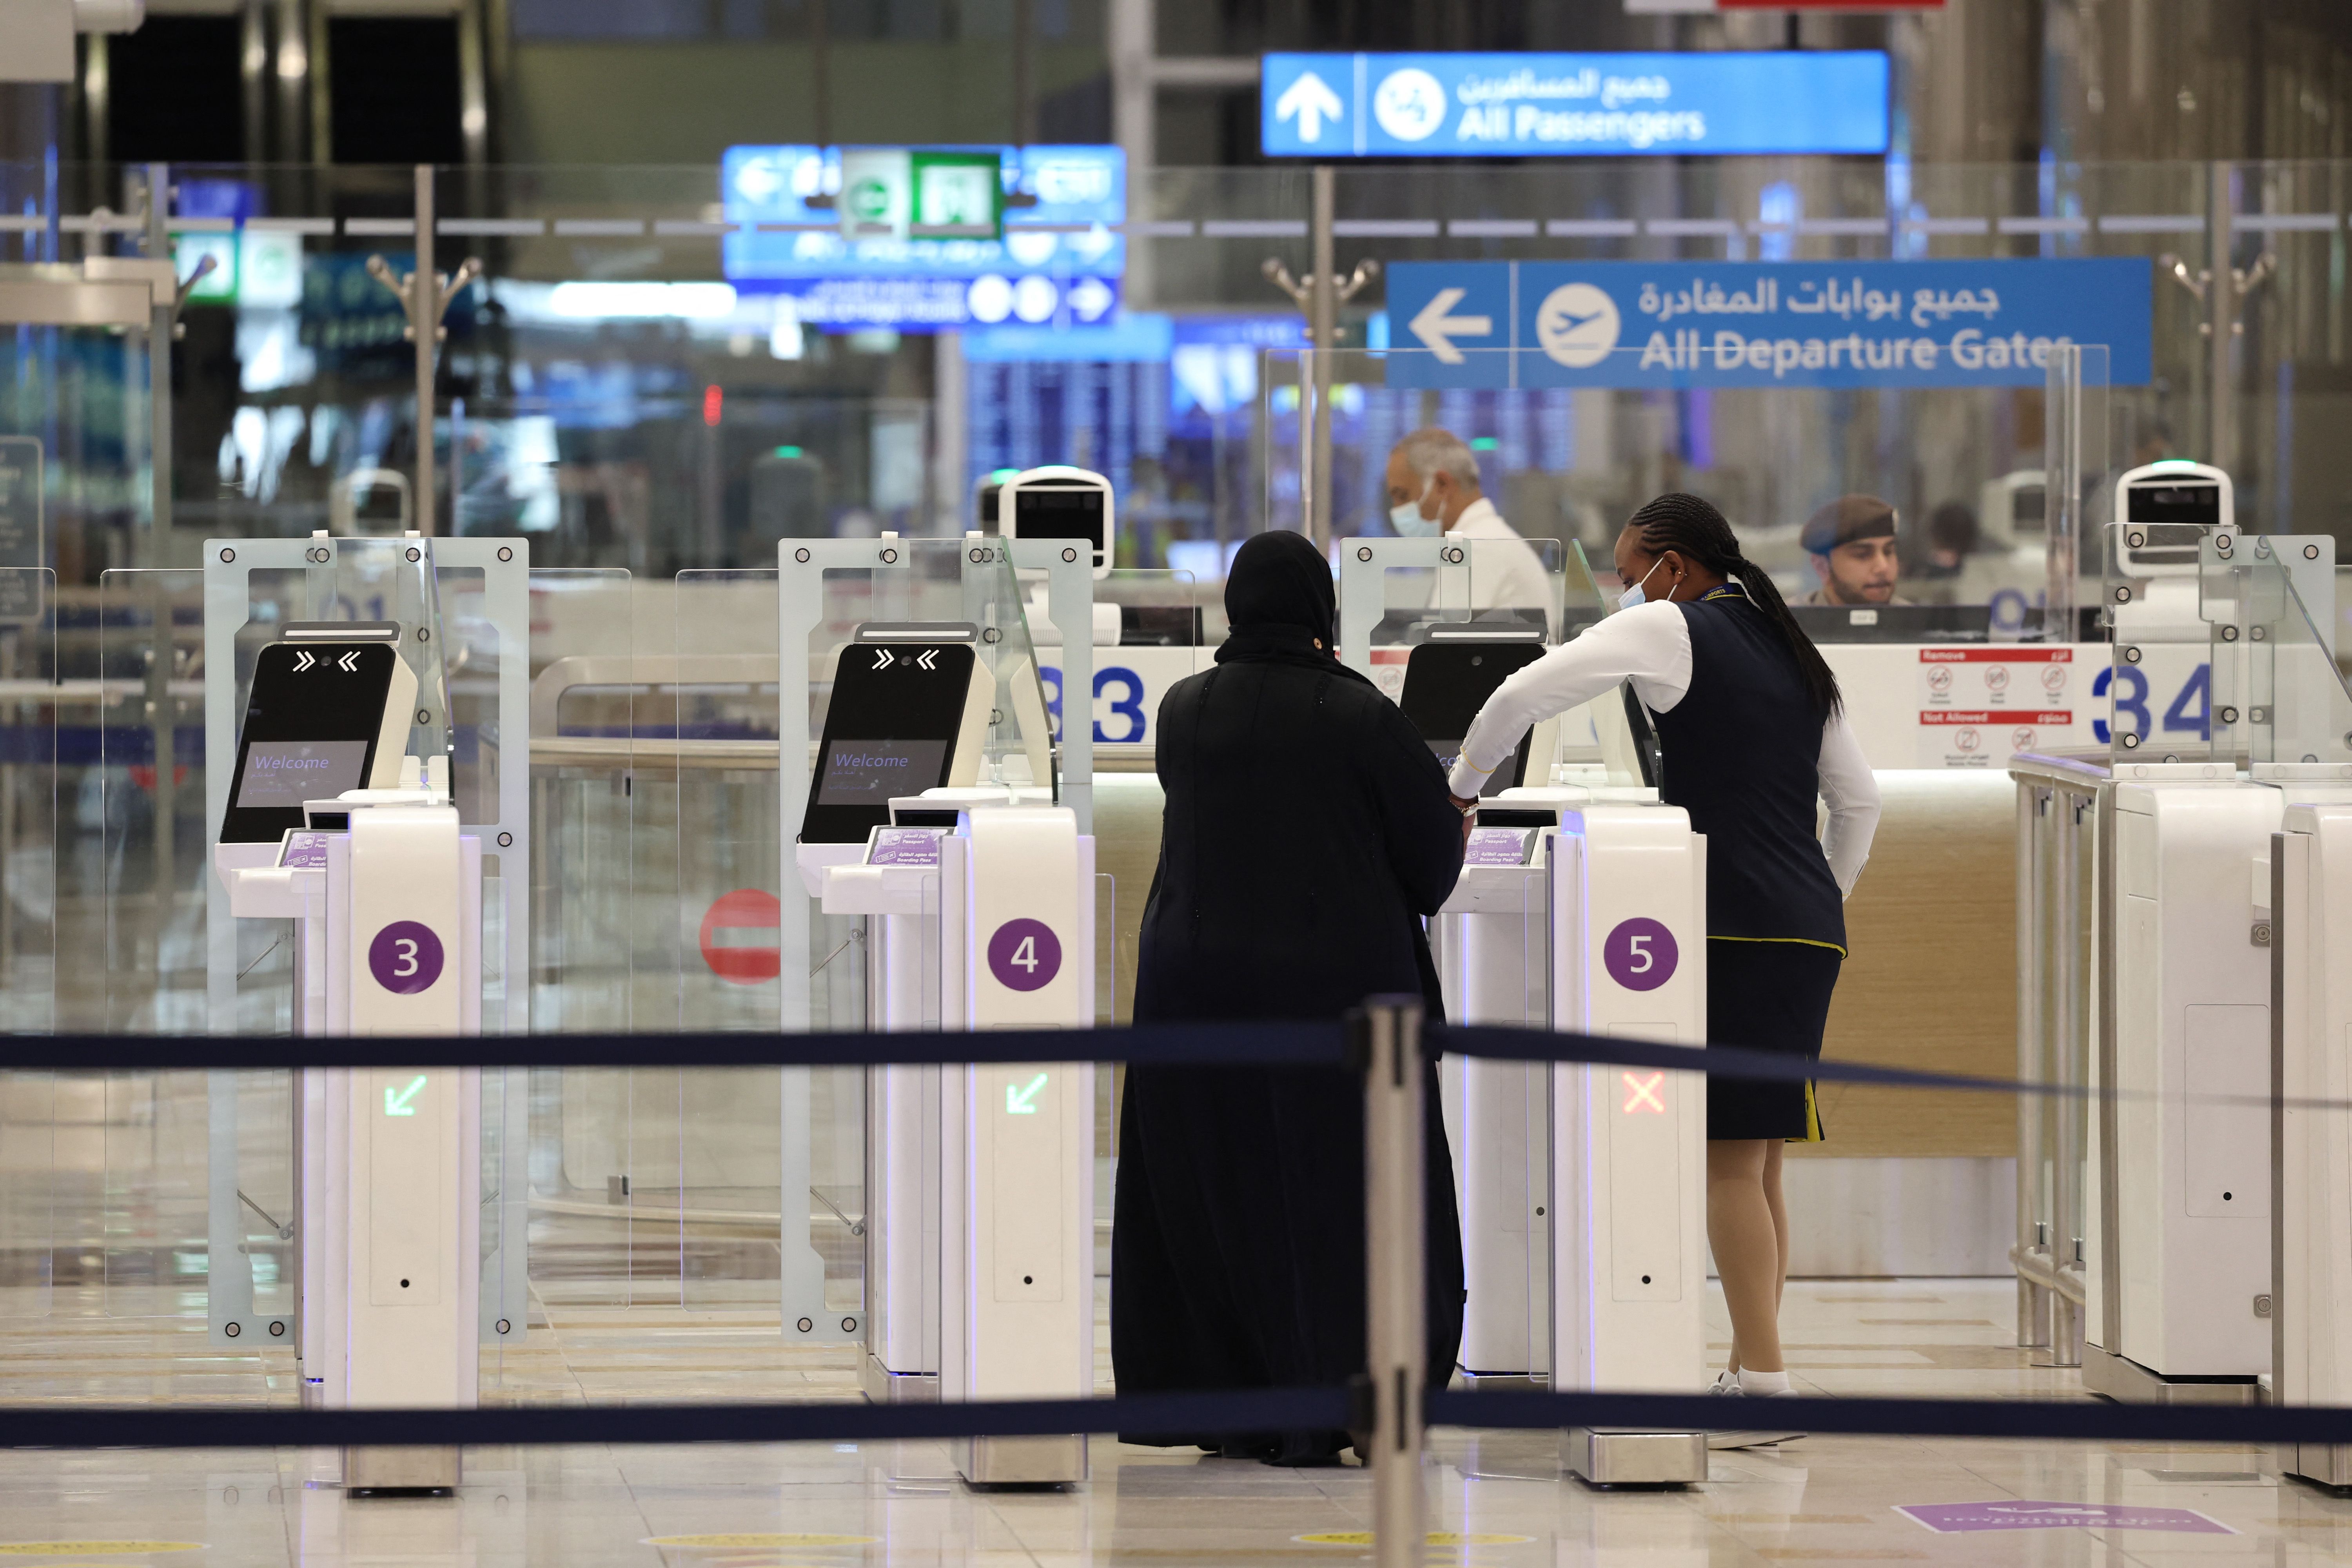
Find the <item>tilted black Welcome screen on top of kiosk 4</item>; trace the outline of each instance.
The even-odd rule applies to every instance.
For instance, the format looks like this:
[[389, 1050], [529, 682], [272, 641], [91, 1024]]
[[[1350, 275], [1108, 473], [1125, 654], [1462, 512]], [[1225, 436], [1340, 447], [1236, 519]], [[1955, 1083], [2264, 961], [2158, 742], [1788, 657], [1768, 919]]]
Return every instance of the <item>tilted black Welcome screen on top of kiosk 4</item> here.
[[948, 783], [971, 691], [971, 644], [851, 642], [840, 651], [804, 844], [863, 844], [891, 797]]

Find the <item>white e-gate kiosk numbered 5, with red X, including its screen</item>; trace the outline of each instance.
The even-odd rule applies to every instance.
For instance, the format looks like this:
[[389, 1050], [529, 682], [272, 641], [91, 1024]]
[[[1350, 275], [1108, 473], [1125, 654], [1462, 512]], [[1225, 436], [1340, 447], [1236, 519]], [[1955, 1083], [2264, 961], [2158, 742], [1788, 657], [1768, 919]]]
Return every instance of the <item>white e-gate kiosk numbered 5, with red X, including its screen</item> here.
[[[1350, 590], [1378, 592], [1367, 578], [1381, 555], [1357, 559], [1355, 543], [1341, 555], [1343, 611]], [[1498, 621], [1439, 621], [1421, 635], [1399, 703], [1451, 762], [1486, 696], [1541, 658], [1545, 637]], [[1590, 724], [1599, 745], [1557, 769], [1583, 783], [1552, 783], [1571, 722]], [[1611, 696], [1536, 726], [1496, 771], [1463, 875], [1432, 922], [1451, 1016], [1705, 1041], [1705, 839], [1637, 783], [1632, 755]], [[1444, 1077], [1468, 1281], [1465, 1380], [1705, 1387], [1705, 1081], [1489, 1060], [1449, 1060]], [[1571, 1429], [1562, 1465], [1597, 1486], [1705, 1481], [1708, 1439]]]

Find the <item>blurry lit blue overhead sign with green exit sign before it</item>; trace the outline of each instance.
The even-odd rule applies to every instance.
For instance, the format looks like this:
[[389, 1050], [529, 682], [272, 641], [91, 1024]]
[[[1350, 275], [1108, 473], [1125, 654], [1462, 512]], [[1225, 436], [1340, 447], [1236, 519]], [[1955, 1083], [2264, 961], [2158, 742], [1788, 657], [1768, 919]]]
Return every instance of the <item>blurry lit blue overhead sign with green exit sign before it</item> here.
[[[995, 207], [981, 188], [995, 160]], [[1004, 197], [1035, 195], [1004, 219]], [[809, 207], [809, 197], [835, 197]], [[720, 261], [739, 294], [790, 294], [809, 327], [1094, 327], [1127, 270], [1127, 155], [1115, 146], [741, 146], [720, 162], [739, 228]], [[849, 237], [844, 228], [858, 228]]]

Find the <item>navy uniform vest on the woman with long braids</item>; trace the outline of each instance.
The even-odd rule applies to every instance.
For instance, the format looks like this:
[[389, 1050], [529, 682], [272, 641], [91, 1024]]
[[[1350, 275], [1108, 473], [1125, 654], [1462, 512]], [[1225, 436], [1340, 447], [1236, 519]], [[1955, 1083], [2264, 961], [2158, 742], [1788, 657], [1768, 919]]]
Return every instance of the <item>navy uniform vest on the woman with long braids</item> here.
[[1813, 835], [1820, 715], [1797, 656], [1733, 588], [1682, 604], [1691, 689], [1653, 715], [1661, 797], [1708, 835], [1708, 936], [1846, 950], [1837, 879]]

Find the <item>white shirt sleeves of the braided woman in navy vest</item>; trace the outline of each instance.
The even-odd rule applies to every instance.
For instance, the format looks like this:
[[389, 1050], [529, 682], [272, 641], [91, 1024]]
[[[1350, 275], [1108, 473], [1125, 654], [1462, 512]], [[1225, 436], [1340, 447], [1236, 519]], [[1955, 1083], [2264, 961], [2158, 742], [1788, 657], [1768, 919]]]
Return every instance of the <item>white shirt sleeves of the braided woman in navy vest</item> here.
[[[1691, 628], [1677, 604], [1661, 599], [1623, 609], [1496, 686], [1470, 722], [1470, 736], [1454, 764], [1454, 795], [1475, 797], [1486, 776], [1519, 748], [1519, 736], [1531, 724], [1588, 703], [1618, 682], [1632, 682], [1632, 693], [1651, 712], [1672, 712], [1689, 696]], [[1879, 827], [1879, 783], [1844, 710], [1832, 712], [1820, 726], [1818, 766], [1820, 797], [1830, 806], [1823, 853], [1837, 891], [1851, 896]]]

